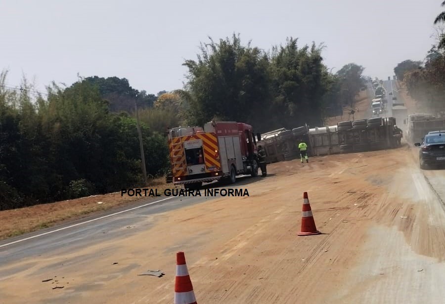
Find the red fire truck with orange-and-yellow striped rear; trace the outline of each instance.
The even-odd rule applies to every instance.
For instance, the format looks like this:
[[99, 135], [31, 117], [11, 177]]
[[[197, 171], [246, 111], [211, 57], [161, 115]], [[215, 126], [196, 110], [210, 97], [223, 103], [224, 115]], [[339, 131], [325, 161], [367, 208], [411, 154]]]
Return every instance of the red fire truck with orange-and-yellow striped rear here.
[[212, 121], [168, 130], [172, 182], [199, 189], [214, 180], [234, 183], [237, 175], [258, 175], [257, 138], [252, 126]]

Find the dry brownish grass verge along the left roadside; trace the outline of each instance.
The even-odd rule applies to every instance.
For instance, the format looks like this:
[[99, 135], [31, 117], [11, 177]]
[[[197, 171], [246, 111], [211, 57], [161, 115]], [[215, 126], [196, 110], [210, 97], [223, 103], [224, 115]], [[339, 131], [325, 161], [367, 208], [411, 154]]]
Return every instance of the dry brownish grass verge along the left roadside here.
[[[165, 182], [165, 177], [160, 177], [149, 180], [145, 188], [157, 189], [163, 195], [165, 189], [172, 187], [173, 184]], [[83, 218], [93, 212], [112, 210], [142, 199], [150, 197], [122, 196], [121, 192], [115, 192], [0, 211], [0, 240], [51, 227], [66, 220]]]

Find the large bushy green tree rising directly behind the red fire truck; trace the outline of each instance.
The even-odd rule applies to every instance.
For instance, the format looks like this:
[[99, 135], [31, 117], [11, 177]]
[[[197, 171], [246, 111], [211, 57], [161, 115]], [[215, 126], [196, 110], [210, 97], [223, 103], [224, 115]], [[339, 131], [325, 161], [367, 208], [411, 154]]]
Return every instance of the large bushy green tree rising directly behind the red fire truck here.
[[203, 125], [218, 116], [224, 120], [259, 124], [269, 100], [268, 58], [261, 49], [241, 45], [239, 34], [215, 43], [201, 43], [196, 61], [186, 60], [188, 118]]

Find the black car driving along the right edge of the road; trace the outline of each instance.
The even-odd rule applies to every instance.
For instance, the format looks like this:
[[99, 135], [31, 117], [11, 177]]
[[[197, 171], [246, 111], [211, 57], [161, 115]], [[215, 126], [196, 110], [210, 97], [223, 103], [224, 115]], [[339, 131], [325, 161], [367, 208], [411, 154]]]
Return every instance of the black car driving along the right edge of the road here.
[[420, 169], [431, 165], [445, 165], [445, 133], [426, 134], [422, 143], [417, 142], [414, 145], [420, 147]]

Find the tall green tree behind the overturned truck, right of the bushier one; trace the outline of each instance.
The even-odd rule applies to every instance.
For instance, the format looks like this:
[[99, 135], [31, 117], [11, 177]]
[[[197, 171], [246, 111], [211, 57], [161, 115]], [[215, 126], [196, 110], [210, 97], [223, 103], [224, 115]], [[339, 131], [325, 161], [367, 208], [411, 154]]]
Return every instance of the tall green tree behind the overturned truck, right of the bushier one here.
[[323, 45], [298, 47], [298, 39], [286, 39], [274, 46], [271, 54], [273, 103], [270, 113], [275, 128], [295, 128], [305, 123], [319, 125], [328, 86], [323, 80], [327, 69], [322, 64]]

